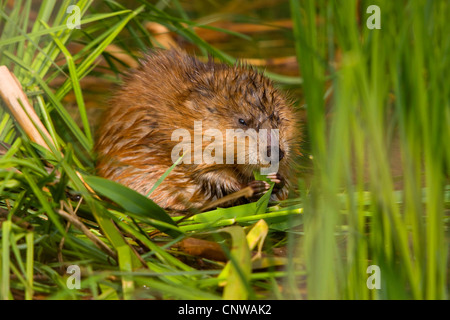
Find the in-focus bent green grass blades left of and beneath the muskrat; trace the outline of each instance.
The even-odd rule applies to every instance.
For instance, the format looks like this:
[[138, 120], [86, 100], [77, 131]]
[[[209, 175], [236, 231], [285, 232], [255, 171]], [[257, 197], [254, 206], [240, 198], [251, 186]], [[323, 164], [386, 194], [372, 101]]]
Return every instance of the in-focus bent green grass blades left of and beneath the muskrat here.
[[[43, 123], [33, 123], [29, 113], [13, 119], [2, 101], [0, 298], [245, 299], [256, 297], [255, 283], [268, 290], [266, 282], [275, 283], [284, 273], [252, 274], [250, 250], [261, 251], [267, 223], [273, 220], [277, 225], [280, 217], [298, 215], [298, 208], [265, 215], [267, 222], [257, 223], [267, 208], [265, 196], [248, 206], [178, 219], [176, 225], [151, 200], [93, 175], [92, 124], [80, 82], [88, 74], [107, 77], [96, 69], [100, 56], [108, 63], [106, 71], [118, 72], [115, 58], [106, 52], [113, 41], [134, 57], [125, 40], [148, 49], [152, 36], [143, 25], [157, 21], [205, 55], [233, 59], [201, 40], [183, 12], [173, 16], [146, 1], [135, 10], [107, 1], [107, 9], [97, 12], [93, 1], [47, 0], [30, 19], [32, 3], [17, 1], [8, 8], [2, 2], [0, 7], [0, 64], [14, 73], [28, 96], [29, 101], [20, 100], [19, 105], [30, 102]], [[80, 8], [80, 29], [67, 27], [66, 9], [71, 4]], [[121, 32], [125, 36], [119, 37]], [[77, 53], [69, 49], [73, 42], [81, 44]], [[7, 79], [4, 70], [2, 81]], [[57, 78], [62, 84], [53, 87]], [[75, 96], [81, 126], [64, 106], [68, 93]], [[36, 127], [40, 139], [28, 135], [23, 130], [27, 126]], [[241, 226], [233, 226], [236, 222]], [[249, 226], [248, 233], [243, 226]], [[159, 231], [166, 236], [158, 236]], [[210, 270], [183, 262], [187, 254], [177, 248], [181, 240], [196, 234], [220, 243], [229, 262], [206, 261]], [[80, 268], [83, 290], [70, 288], [71, 265]]]

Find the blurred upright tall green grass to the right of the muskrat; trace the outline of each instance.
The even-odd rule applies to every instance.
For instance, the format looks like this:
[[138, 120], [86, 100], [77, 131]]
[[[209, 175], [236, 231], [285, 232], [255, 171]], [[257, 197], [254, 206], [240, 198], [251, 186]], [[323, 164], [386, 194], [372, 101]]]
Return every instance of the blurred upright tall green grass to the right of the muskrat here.
[[[379, 30], [366, 27], [373, 4]], [[448, 298], [448, 3], [291, 9], [315, 166], [301, 239], [308, 297]], [[380, 268], [379, 290], [366, 285], [369, 265]]]

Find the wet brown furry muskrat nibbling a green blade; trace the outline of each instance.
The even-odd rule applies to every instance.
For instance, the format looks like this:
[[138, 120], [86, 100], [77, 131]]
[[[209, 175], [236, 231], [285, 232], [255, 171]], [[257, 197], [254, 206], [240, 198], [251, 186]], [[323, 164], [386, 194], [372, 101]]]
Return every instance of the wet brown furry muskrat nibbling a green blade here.
[[[192, 133], [194, 121], [201, 121], [203, 133], [217, 128], [223, 137], [226, 129], [278, 129], [278, 172], [267, 177], [275, 182], [272, 199], [282, 200], [288, 195], [293, 159], [299, 153], [296, 119], [292, 103], [252, 67], [215, 63], [211, 58], [202, 62], [175, 49], [156, 50], [126, 75], [111, 100], [97, 133], [97, 173], [147, 195], [174, 163], [172, 150], [179, 144], [172, 139], [176, 129]], [[274, 138], [267, 136], [270, 148]], [[234, 139], [232, 143], [236, 145]], [[181, 163], [149, 197], [168, 210], [185, 211], [246, 186], [261, 195], [268, 184], [255, 181], [253, 171], [264, 164], [250, 164], [248, 148], [244, 152], [244, 164]]]

